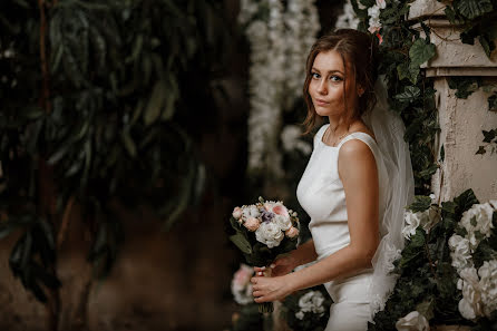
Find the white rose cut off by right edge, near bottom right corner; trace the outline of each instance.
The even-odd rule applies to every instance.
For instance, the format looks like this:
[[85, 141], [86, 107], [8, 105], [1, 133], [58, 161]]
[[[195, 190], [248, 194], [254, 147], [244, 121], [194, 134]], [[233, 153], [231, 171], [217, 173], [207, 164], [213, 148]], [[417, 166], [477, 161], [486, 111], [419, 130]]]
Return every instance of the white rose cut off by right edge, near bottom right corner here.
[[485, 261], [478, 270], [485, 315], [497, 310], [497, 260]]

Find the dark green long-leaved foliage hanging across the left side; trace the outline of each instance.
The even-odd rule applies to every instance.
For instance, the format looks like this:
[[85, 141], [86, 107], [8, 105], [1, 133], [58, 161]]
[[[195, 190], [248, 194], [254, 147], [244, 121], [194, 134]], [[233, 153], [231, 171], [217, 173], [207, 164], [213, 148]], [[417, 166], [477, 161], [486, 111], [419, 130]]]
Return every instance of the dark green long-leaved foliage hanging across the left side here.
[[[43, 222], [59, 224], [74, 198], [94, 235], [88, 259], [105, 275], [123, 241], [111, 202], [150, 206], [166, 230], [198, 202], [205, 167], [186, 128], [192, 117], [214, 108], [212, 82], [221, 75], [226, 39], [221, 6], [215, 0], [60, 0], [42, 8], [43, 30], [37, 1], [2, 1], [0, 197], [9, 220], [26, 213], [45, 220], [39, 183], [51, 181], [57, 210]], [[40, 36], [46, 37], [46, 74]], [[0, 230], [0, 236], [10, 232]], [[17, 250], [35, 256], [43, 233], [50, 242], [48, 232], [26, 234]], [[45, 266], [48, 272], [49, 263]], [[37, 278], [23, 276], [18, 262], [11, 267], [39, 292], [32, 285]]]

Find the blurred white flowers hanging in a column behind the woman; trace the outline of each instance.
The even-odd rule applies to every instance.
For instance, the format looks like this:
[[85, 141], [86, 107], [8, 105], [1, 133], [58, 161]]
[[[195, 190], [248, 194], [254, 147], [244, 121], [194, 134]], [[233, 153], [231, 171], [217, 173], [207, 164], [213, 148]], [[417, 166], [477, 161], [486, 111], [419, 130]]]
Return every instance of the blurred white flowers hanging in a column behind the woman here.
[[[269, 14], [267, 14], [269, 10]], [[251, 45], [248, 169], [281, 176], [281, 117], [300, 95], [305, 57], [319, 31], [314, 0], [242, 0]]]

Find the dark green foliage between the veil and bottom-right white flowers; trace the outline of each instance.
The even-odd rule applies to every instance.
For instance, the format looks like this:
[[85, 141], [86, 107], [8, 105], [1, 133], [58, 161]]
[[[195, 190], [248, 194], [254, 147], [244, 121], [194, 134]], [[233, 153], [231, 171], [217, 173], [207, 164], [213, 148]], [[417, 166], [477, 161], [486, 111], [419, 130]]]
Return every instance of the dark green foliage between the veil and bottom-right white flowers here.
[[[409, 210], [433, 208], [441, 220], [426, 233], [419, 226], [407, 242], [394, 273], [399, 275], [386, 309], [374, 317], [368, 330], [396, 330], [394, 323], [409, 312], [418, 310], [430, 324], [467, 324], [457, 309], [461, 292], [457, 289], [458, 275], [451, 266], [448, 240], [458, 230], [462, 213], [478, 201], [471, 189], [464, 192], [441, 207], [430, 206], [430, 198], [417, 197]], [[485, 259], [485, 256], [481, 256]]]

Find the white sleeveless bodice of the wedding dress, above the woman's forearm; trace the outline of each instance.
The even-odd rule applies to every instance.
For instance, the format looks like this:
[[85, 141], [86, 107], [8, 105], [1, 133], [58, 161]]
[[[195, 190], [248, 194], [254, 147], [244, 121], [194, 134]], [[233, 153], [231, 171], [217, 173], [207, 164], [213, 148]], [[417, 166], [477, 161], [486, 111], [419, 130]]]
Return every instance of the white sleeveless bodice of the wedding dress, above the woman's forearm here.
[[[345, 192], [338, 171], [340, 147], [351, 139], [366, 143], [374, 155], [379, 175], [379, 220], [382, 220], [388, 194], [388, 176], [381, 162], [380, 149], [374, 139], [366, 133], [352, 133], [345, 136], [338, 146], [329, 146], [322, 142], [328, 124], [323, 125], [314, 136], [314, 149], [296, 189], [301, 206], [311, 217], [309, 228], [314, 240], [319, 259], [328, 256], [350, 243]], [[381, 227], [380, 233], [386, 233]]]

